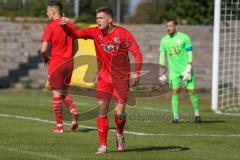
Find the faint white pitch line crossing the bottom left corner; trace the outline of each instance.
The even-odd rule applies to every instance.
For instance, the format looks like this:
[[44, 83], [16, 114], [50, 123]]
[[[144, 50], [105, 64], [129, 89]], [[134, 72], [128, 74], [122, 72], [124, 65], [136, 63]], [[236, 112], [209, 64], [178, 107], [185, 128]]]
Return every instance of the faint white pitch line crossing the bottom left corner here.
[[57, 159], [57, 160], [70, 160], [68, 158], [60, 157], [60, 156], [55, 156], [51, 154], [43, 154], [43, 153], [37, 153], [37, 152], [32, 152], [32, 151], [26, 151], [26, 150], [20, 150], [17, 148], [12, 148], [12, 147], [5, 147], [5, 146], [0, 146], [1, 149], [12, 151], [12, 152], [17, 152], [21, 154], [27, 154], [30, 156], [35, 156], [35, 157], [42, 157], [42, 158], [48, 158], [48, 159]]

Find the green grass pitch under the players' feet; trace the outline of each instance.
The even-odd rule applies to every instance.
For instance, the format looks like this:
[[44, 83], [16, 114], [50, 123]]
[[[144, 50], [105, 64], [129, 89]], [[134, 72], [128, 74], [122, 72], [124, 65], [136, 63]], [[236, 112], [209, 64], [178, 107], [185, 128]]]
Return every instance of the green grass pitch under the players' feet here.
[[[109, 114], [108, 153], [96, 155], [94, 98], [73, 96], [82, 113], [81, 126], [63, 134], [51, 132], [54, 117], [51, 93], [40, 90], [0, 91], [1, 160], [238, 160], [239, 117], [216, 115], [210, 95], [200, 94], [202, 124], [195, 124], [188, 97], [182, 96], [180, 124], [171, 123], [170, 96], [137, 99], [127, 106], [125, 133], [127, 149], [116, 152], [113, 113]], [[65, 120], [69, 114], [64, 113]]]

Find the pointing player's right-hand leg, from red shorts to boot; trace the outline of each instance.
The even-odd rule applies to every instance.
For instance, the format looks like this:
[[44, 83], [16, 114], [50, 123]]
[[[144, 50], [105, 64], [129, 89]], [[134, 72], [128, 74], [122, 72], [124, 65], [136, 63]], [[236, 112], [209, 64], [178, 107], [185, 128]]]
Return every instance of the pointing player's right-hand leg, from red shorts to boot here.
[[129, 91], [129, 81], [121, 81], [114, 84], [113, 95], [116, 101], [115, 126], [116, 126], [116, 147], [118, 151], [125, 150], [125, 139], [123, 129], [126, 123], [125, 103]]

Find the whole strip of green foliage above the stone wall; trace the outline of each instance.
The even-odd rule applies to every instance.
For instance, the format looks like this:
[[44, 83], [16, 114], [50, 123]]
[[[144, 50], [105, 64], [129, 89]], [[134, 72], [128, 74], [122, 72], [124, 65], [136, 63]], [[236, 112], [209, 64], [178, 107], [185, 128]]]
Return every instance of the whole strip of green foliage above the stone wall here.
[[[49, 0], [0, 0], [0, 16], [46, 17]], [[59, 0], [66, 16], [74, 16], [74, 0]], [[126, 21], [130, 0], [121, 0], [121, 21]], [[129, 23], [163, 23], [175, 17], [182, 24], [209, 25], [213, 23], [213, 0], [142, 0]], [[95, 22], [95, 10], [106, 6], [116, 17], [117, 0], [80, 0], [78, 22]]]

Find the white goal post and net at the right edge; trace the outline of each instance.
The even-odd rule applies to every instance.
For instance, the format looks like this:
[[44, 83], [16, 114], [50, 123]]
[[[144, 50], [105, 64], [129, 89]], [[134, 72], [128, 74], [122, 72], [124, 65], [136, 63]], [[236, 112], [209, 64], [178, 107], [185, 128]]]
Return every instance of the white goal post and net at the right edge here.
[[215, 0], [214, 18], [212, 109], [240, 115], [240, 0]]

